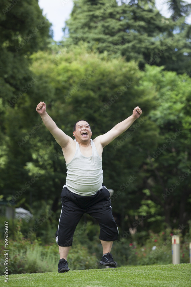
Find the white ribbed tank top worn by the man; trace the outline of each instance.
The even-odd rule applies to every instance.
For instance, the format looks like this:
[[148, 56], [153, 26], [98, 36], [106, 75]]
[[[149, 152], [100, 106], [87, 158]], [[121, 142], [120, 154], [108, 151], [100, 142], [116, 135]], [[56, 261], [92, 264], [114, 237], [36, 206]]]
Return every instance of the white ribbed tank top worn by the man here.
[[83, 156], [78, 142], [75, 139], [74, 141], [76, 142], [76, 152], [72, 160], [66, 164], [66, 187], [78, 195], [94, 195], [102, 188], [102, 160], [92, 139], [90, 141], [92, 155], [89, 157]]

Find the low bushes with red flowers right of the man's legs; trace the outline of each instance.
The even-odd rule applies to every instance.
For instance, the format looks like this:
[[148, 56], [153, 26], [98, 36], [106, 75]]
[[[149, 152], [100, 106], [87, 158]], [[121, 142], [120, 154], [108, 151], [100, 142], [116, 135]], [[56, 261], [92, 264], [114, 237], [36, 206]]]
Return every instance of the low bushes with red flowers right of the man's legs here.
[[119, 265], [170, 264], [172, 263], [171, 235], [174, 234], [180, 236], [180, 263], [188, 263], [190, 233], [183, 238], [180, 232], [180, 229], [170, 228], [158, 234], [149, 231], [148, 239], [142, 244], [137, 241], [136, 236], [123, 238], [113, 243], [112, 254]]

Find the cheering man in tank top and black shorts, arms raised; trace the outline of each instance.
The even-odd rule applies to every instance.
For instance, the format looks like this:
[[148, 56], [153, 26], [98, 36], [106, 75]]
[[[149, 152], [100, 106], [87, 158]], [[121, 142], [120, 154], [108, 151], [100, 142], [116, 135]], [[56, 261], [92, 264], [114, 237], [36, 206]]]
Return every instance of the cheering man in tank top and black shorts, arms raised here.
[[109, 191], [103, 183], [102, 152], [113, 139], [126, 131], [140, 117], [142, 110], [137, 106], [133, 114], [118, 123], [103, 135], [91, 139], [90, 125], [80, 120], [74, 125], [72, 139], [59, 129], [46, 113], [46, 104], [40, 102], [36, 108], [47, 129], [61, 146], [66, 160], [67, 177], [63, 187], [62, 211], [56, 232], [60, 260], [58, 272], [69, 271], [67, 255], [72, 246], [72, 238], [76, 226], [84, 213], [94, 217], [100, 226], [103, 257], [100, 264], [116, 267], [110, 253], [113, 241], [117, 240], [118, 228], [111, 212]]

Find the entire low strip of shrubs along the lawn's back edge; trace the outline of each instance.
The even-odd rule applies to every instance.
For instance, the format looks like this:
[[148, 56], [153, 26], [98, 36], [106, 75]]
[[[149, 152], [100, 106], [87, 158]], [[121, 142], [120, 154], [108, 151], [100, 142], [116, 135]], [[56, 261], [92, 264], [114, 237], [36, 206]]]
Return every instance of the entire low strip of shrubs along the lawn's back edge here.
[[[86, 227], [85, 227], [86, 226]], [[74, 246], [68, 254], [68, 265], [70, 270], [103, 268], [99, 265], [102, 256], [102, 247], [98, 240], [87, 239], [90, 231], [90, 223], [79, 225], [74, 235]], [[121, 241], [114, 241], [112, 255], [121, 265], [151, 265], [170, 264], [172, 262], [171, 235], [180, 235], [180, 263], [189, 262], [189, 242], [191, 241], [191, 228], [184, 236], [180, 230], [166, 229], [158, 234], [149, 232], [149, 238], [140, 244], [135, 236]], [[173, 232], [173, 233], [172, 233]], [[78, 234], [80, 234], [78, 236]], [[41, 245], [37, 240], [31, 242], [17, 232], [16, 240], [9, 242], [9, 274], [57, 272], [59, 261], [58, 245], [56, 243]], [[82, 243], [78, 242], [84, 241]], [[3, 275], [4, 252], [3, 241], [1, 241], [2, 252], [0, 257], [1, 275]]]

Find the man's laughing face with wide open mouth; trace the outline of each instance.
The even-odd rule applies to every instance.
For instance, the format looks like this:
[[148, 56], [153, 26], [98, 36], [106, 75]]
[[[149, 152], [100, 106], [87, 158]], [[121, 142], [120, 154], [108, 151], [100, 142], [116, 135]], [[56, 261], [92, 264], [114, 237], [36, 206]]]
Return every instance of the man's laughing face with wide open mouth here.
[[76, 141], [89, 141], [92, 132], [90, 130], [90, 126], [86, 121], [79, 121], [76, 124], [76, 130], [73, 132]]

